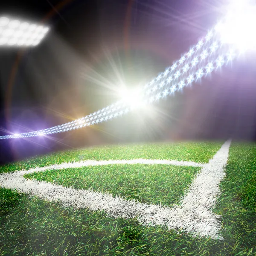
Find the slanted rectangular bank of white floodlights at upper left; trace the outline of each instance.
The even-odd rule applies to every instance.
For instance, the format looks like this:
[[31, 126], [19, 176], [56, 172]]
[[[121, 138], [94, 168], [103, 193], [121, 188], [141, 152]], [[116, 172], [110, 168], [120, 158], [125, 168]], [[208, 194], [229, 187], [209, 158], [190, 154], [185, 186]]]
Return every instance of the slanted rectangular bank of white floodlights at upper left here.
[[0, 17], [0, 46], [33, 47], [41, 43], [49, 27]]

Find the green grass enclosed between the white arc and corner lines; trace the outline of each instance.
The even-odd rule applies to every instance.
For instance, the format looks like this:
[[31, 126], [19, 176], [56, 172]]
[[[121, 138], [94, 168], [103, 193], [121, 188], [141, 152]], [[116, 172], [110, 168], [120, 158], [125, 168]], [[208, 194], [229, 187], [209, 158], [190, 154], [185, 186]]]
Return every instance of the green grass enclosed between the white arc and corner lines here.
[[200, 168], [188, 166], [125, 164], [48, 170], [24, 175], [74, 189], [121, 195], [142, 203], [178, 204]]

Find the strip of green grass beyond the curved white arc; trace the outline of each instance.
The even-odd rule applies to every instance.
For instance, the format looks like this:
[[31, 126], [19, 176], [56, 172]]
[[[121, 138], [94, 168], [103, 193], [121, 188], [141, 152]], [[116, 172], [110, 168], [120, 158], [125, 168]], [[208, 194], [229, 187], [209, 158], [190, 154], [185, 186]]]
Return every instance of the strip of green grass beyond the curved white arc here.
[[222, 144], [223, 142], [181, 142], [171, 144], [110, 145], [61, 151], [1, 166], [0, 173], [81, 160], [131, 160], [144, 158], [207, 163]]

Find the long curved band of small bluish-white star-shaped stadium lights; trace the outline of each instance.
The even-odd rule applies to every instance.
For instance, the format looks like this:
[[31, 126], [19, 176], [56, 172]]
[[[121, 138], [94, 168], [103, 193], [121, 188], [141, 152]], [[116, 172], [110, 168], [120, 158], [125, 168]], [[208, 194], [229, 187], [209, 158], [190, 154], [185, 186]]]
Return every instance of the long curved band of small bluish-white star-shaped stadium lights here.
[[[215, 30], [209, 31], [203, 39], [198, 41], [198, 44], [192, 46], [171, 67], [167, 67], [163, 73], [160, 73], [143, 87], [143, 90], [139, 92], [142, 105], [151, 104], [172, 95], [177, 90], [182, 90], [192, 82], [200, 80], [222, 65], [227, 64], [238, 54], [228, 45], [221, 44]], [[39, 131], [0, 136], [0, 139], [35, 137], [71, 131], [108, 121], [136, 108], [125, 101], [118, 101], [72, 122]]]

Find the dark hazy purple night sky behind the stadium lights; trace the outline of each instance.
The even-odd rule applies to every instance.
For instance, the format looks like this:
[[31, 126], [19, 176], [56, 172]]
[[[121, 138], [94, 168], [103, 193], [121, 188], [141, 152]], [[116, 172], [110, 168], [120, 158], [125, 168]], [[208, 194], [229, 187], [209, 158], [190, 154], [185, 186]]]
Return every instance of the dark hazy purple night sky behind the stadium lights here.
[[[120, 81], [145, 84], [222, 15], [221, 0], [9, 0], [0, 9], [51, 27], [34, 49], [0, 49], [1, 135], [59, 125], [111, 104]], [[246, 55], [143, 117], [129, 114], [50, 138], [2, 140], [0, 163], [106, 143], [255, 140], [255, 68], [255, 55]]]

